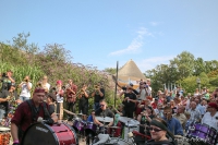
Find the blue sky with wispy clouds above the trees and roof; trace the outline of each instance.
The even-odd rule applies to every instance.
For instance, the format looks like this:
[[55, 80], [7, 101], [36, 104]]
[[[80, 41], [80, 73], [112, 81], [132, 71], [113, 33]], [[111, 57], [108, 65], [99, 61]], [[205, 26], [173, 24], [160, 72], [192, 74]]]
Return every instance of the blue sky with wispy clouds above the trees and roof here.
[[99, 70], [218, 55], [218, 0], [1, 0], [0, 17], [0, 41], [29, 32], [29, 43], [64, 44], [74, 63]]

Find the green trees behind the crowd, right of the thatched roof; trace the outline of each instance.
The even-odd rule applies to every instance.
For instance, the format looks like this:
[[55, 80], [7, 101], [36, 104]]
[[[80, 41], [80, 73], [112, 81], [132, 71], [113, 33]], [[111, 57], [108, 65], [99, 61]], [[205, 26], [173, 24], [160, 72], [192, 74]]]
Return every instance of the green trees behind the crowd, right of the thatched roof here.
[[155, 69], [146, 71], [145, 75], [152, 80], [155, 93], [168, 84], [181, 85], [186, 92], [193, 93], [198, 87], [197, 77], [201, 78], [201, 86], [213, 90], [217, 86], [215, 77], [218, 75], [218, 61], [195, 59], [192, 53], [183, 51], [170, 60], [170, 64], [159, 64]]

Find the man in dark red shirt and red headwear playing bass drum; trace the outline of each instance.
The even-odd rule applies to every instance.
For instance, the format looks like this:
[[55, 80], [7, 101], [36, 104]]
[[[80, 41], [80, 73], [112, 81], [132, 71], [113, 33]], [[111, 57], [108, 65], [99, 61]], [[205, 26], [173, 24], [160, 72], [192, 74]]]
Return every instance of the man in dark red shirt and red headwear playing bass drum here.
[[11, 120], [13, 145], [19, 145], [23, 133], [32, 123], [37, 122], [38, 117], [47, 120], [49, 124], [58, 121], [56, 113], [48, 112], [48, 105], [44, 102], [45, 93], [43, 87], [37, 87], [33, 93], [33, 98], [22, 102], [15, 110]]

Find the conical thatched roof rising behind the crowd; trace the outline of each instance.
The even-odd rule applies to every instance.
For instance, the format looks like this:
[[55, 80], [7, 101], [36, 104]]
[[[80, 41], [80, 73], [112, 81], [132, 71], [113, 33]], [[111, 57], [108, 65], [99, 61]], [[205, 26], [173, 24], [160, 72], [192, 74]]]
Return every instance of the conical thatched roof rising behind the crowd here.
[[118, 78], [140, 81], [146, 80], [145, 75], [140, 71], [135, 62], [131, 59], [119, 71]]

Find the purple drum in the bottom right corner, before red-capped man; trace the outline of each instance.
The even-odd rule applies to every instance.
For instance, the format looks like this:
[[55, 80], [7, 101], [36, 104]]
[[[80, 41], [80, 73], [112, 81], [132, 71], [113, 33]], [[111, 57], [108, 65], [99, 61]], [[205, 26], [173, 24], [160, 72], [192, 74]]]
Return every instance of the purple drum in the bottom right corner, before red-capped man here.
[[217, 145], [218, 132], [216, 129], [202, 123], [193, 123], [186, 133], [191, 144]]

